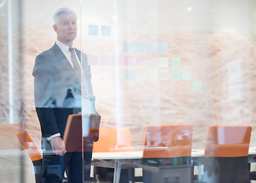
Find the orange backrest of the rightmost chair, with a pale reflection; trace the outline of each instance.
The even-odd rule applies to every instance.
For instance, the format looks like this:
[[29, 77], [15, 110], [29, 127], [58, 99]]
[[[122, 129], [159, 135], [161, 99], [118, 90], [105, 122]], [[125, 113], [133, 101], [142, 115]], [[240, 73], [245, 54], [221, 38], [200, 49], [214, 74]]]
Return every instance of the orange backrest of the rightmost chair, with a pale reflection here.
[[205, 156], [248, 156], [250, 139], [250, 126], [210, 126], [208, 127]]

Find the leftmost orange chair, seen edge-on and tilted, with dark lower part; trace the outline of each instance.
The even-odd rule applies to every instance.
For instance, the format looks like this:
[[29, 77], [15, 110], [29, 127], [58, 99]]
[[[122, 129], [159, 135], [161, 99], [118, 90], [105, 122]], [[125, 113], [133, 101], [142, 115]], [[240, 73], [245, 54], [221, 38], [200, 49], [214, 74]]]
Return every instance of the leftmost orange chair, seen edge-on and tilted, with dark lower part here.
[[31, 139], [31, 136], [28, 134], [27, 131], [18, 132], [16, 135], [21, 145], [24, 147], [24, 149], [27, 150], [28, 156], [31, 158], [31, 161], [33, 162], [35, 181], [39, 183], [41, 181], [41, 169], [43, 159], [42, 153], [35, 145], [34, 141]]

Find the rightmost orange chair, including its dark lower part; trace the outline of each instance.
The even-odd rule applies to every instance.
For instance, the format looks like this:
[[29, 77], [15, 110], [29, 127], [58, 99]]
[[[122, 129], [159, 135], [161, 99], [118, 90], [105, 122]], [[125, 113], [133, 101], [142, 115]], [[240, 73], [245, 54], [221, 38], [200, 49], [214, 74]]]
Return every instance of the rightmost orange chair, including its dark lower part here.
[[247, 183], [250, 126], [211, 126], [205, 145], [204, 181]]

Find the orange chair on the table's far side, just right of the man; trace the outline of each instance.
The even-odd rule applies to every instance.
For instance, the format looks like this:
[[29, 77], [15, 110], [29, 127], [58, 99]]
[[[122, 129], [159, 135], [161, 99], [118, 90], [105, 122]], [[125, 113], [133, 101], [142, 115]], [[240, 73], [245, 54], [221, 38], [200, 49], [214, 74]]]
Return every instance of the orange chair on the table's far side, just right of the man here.
[[[94, 152], [126, 152], [133, 151], [133, 142], [129, 128], [100, 128], [99, 140], [94, 142]], [[100, 164], [99, 164], [100, 163]], [[94, 176], [98, 181], [112, 181], [115, 164], [100, 161], [94, 163]], [[124, 168], [120, 164], [121, 171], [118, 173], [121, 181], [130, 181], [134, 176], [133, 168]], [[118, 176], [118, 177], [119, 177]]]

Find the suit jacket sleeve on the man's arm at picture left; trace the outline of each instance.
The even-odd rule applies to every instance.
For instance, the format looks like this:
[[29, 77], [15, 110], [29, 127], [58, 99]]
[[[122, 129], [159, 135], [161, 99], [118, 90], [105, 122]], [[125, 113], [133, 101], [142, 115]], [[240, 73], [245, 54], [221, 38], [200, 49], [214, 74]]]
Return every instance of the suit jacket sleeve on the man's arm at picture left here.
[[34, 63], [34, 104], [41, 124], [42, 136], [51, 136], [59, 133], [54, 114], [54, 106], [51, 106], [54, 89], [54, 68], [51, 66], [51, 58], [46, 54], [37, 56]]

